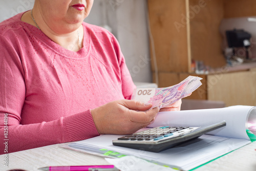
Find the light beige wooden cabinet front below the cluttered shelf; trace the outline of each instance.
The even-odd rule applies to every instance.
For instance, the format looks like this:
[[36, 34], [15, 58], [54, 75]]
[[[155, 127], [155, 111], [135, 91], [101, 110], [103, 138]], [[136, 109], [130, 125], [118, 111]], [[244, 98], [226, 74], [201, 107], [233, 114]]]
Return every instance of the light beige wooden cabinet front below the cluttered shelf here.
[[230, 105], [256, 105], [256, 71], [208, 75], [208, 100]]

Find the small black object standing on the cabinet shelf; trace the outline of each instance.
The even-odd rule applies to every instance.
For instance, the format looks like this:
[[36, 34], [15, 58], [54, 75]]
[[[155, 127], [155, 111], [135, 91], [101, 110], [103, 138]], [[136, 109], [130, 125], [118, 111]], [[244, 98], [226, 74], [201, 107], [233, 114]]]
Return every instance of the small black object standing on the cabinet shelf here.
[[246, 59], [249, 59], [248, 49], [251, 46], [250, 38], [251, 34], [241, 30], [227, 30], [226, 31], [228, 47], [233, 49], [233, 55], [235, 54], [234, 48], [245, 48]]

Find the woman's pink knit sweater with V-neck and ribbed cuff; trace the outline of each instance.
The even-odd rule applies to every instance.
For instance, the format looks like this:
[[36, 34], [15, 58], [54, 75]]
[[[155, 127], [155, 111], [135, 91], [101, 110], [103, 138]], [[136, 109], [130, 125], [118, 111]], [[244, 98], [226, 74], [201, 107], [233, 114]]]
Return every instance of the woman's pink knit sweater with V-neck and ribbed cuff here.
[[116, 38], [83, 23], [83, 48], [69, 51], [22, 14], [0, 24], [0, 154], [98, 136], [90, 109], [135, 88]]

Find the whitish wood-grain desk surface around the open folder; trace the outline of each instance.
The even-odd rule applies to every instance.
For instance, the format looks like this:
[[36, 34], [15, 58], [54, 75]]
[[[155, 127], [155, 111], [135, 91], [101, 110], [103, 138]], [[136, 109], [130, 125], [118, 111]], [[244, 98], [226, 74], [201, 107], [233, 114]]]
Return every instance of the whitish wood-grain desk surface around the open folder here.
[[[54, 144], [26, 151], [8, 154], [8, 167], [4, 166], [4, 155], [0, 155], [0, 170], [14, 168], [25, 170], [38, 170], [37, 168], [56, 165], [104, 165], [110, 164], [104, 158], [71, 151], [61, 148], [69, 144]], [[243, 146], [223, 157], [220, 157], [206, 165], [197, 168], [195, 171], [235, 171], [235, 170], [256, 170], [256, 141]]]

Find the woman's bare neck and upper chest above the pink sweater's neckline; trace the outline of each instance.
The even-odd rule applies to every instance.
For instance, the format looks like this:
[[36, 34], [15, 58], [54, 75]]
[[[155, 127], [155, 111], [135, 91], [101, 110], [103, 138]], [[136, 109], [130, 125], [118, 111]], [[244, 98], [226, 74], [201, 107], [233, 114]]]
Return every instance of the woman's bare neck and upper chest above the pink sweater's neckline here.
[[35, 22], [32, 18], [31, 11], [25, 12], [21, 20], [35, 27], [38, 26], [50, 39], [65, 49], [77, 52], [83, 47], [83, 27], [81, 24], [80, 26], [77, 24], [73, 26], [69, 25], [66, 28], [63, 28], [64, 26], [57, 27], [56, 24], [56, 28], [52, 29], [44, 22], [44, 19], [40, 15], [36, 14], [34, 10], [32, 12]]

